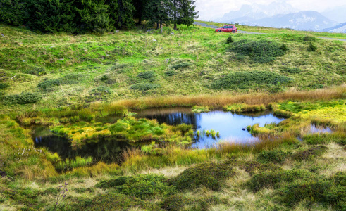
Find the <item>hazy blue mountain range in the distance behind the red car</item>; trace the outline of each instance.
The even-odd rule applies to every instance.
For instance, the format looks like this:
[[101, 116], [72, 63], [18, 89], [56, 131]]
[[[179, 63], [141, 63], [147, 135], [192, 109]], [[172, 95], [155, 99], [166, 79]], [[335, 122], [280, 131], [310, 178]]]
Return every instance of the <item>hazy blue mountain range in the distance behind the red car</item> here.
[[[329, 9], [321, 14], [316, 11], [298, 11], [285, 2], [273, 2], [268, 5], [243, 5], [238, 11], [225, 13], [216, 22], [239, 23], [265, 27], [283, 27], [293, 30], [311, 30], [345, 33], [346, 6]], [[328, 17], [326, 17], [328, 16]], [[344, 21], [345, 20], [345, 21]]]

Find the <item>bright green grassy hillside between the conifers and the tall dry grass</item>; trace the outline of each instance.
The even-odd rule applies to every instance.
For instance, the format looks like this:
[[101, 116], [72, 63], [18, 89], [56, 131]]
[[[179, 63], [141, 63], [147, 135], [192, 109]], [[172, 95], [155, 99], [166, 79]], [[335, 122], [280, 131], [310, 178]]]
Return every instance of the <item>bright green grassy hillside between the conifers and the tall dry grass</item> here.
[[[168, 27], [163, 34], [103, 36], [35, 34], [4, 25], [0, 31], [1, 95], [8, 96], [1, 109], [30, 101], [40, 108], [143, 96], [311, 90], [346, 80], [345, 43], [297, 32], [232, 34], [234, 42], [227, 44], [230, 34], [198, 26], [180, 26], [173, 35]], [[22, 92], [35, 96], [19, 102], [13, 95]]]

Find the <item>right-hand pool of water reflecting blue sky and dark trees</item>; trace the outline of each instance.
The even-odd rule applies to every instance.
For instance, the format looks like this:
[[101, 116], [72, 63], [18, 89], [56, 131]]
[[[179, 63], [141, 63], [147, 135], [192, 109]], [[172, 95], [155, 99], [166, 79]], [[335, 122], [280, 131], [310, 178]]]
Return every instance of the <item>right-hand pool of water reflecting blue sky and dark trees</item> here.
[[281, 122], [285, 120], [273, 116], [267, 112], [264, 115], [256, 116], [254, 114], [239, 115], [221, 110], [211, 111], [209, 113], [159, 113], [144, 115], [150, 119], [157, 119], [160, 123], [167, 124], [193, 124], [194, 129], [198, 129], [201, 134], [203, 130], [214, 129], [215, 132], [220, 132], [220, 139], [213, 139], [211, 136], [200, 137], [195, 143], [192, 143], [194, 148], [206, 148], [214, 146], [220, 140], [233, 141], [239, 143], [252, 143], [258, 139], [253, 137], [247, 130], [242, 130], [247, 125], [259, 123], [260, 127], [271, 122]]

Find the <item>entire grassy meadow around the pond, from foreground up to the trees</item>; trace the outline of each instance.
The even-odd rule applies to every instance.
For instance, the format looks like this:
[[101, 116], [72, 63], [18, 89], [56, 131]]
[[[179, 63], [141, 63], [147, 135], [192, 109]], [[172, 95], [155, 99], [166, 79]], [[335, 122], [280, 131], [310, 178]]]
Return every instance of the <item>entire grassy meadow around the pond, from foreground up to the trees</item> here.
[[[237, 27], [268, 34], [0, 25], [0, 210], [345, 210], [346, 46], [316, 38], [345, 35]], [[192, 125], [133, 117], [177, 106], [287, 119], [249, 125], [256, 143], [196, 150]], [[73, 147], [111, 136], [145, 145], [119, 162], [63, 160], [35, 147], [37, 126]]]

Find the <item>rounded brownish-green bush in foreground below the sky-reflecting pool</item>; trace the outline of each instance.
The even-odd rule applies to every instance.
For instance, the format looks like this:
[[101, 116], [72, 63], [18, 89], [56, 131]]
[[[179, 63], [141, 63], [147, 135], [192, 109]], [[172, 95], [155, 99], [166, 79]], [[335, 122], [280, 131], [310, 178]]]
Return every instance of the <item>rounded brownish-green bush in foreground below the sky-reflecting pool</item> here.
[[190, 167], [177, 177], [171, 179], [179, 191], [205, 186], [213, 191], [218, 191], [225, 179], [233, 176], [233, 168], [226, 163], [204, 162]]

